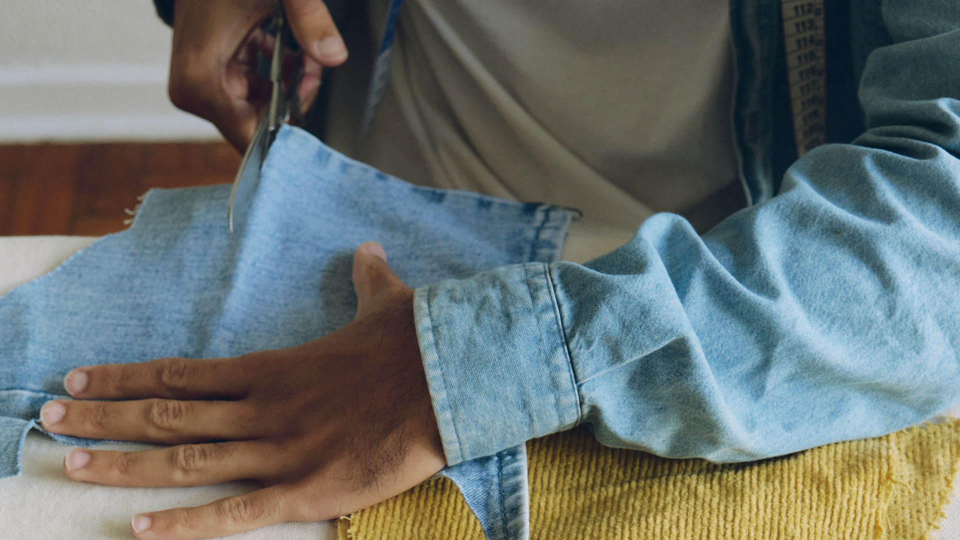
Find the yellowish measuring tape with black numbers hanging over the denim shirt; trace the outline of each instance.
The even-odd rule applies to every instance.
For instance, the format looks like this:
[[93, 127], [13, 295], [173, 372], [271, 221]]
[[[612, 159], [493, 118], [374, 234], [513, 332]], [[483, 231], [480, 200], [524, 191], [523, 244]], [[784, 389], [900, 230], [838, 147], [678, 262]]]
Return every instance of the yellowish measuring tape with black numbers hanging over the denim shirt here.
[[824, 0], [782, 0], [786, 70], [797, 157], [827, 142]]

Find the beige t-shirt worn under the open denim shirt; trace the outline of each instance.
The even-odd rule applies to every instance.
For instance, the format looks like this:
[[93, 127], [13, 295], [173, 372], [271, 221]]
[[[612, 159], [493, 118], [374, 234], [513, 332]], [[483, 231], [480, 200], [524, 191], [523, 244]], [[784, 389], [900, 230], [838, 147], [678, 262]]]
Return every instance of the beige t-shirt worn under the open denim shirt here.
[[[387, 4], [370, 5], [374, 41]], [[406, 0], [370, 134], [356, 127], [367, 79], [333, 87], [327, 140], [414, 184], [580, 209], [575, 228], [616, 245], [657, 211], [703, 230], [744, 204], [728, 10], [727, 0]]]

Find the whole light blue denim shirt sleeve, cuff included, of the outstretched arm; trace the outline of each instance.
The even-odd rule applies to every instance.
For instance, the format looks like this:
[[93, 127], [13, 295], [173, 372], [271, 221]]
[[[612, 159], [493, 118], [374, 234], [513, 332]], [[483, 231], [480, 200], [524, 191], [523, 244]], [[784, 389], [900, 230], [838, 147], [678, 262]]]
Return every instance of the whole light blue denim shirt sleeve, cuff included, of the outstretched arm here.
[[606, 445], [743, 461], [960, 402], [960, 3], [887, 2], [868, 130], [704, 236], [657, 214], [586, 265], [417, 291], [449, 462], [587, 423]]

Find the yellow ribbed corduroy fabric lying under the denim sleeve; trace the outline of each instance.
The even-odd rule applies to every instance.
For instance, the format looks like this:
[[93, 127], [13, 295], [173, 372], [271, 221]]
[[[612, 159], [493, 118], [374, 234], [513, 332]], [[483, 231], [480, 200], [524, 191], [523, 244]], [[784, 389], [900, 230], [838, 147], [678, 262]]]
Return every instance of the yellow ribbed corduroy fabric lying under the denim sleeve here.
[[[527, 445], [533, 540], [919, 540], [948, 502], [960, 421], [725, 465], [607, 448], [582, 428]], [[340, 540], [483, 540], [448, 479], [337, 525]]]

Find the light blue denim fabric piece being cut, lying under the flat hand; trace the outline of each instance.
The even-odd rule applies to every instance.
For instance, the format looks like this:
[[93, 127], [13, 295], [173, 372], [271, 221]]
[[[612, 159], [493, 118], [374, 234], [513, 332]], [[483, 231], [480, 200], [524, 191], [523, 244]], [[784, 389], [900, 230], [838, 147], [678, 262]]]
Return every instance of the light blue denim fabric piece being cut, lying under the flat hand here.
[[[232, 234], [228, 193], [228, 185], [152, 190], [128, 231], [0, 298], [0, 478], [18, 474], [26, 431], [37, 427], [41, 405], [65, 397], [62, 379], [75, 367], [298, 345], [353, 318], [350, 271], [362, 242], [380, 242], [397, 276], [418, 287], [550, 262], [571, 218], [546, 205], [406, 184], [289, 127]], [[522, 447], [445, 474], [463, 486], [484, 529], [497, 531], [492, 538], [525, 536]]]

